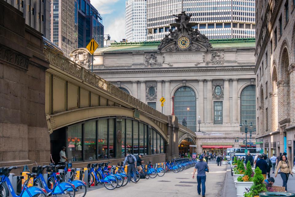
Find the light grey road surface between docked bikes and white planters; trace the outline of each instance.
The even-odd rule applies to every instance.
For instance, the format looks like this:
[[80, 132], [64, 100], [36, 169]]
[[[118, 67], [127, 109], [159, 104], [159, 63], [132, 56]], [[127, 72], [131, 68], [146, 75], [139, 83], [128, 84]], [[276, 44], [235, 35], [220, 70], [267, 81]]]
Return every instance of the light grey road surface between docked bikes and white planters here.
[[[206, 197], [221, 197], [224, 188], [226, 166], [217, 166], [215, 161], [208, 163], [210, 172], [206, 173]], [[199, 196], [197, 193], [197, 180], [192, 179], [194, 167], [182, 172], [168, 172], [163, 177], [155, 179], [140, 179], [138, 183], [128, 183], [125, 187], [107, 190], [102, 187], [88, 191], [86, 197], [113, 197], [113, 196]], [[196, 176], [196, 175], [195, 175]], [[92, 188], [91, 188], [92, 189]]]

